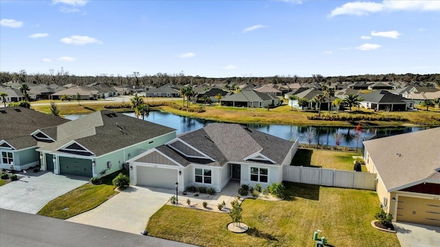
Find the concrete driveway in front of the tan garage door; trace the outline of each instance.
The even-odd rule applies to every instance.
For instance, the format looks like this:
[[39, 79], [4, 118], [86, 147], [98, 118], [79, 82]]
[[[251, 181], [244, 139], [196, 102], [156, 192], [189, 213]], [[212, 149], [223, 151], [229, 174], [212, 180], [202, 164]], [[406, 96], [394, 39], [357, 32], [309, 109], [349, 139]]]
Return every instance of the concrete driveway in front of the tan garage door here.
[[440, 246], [440, 227], [393, 222], [401, 247]]

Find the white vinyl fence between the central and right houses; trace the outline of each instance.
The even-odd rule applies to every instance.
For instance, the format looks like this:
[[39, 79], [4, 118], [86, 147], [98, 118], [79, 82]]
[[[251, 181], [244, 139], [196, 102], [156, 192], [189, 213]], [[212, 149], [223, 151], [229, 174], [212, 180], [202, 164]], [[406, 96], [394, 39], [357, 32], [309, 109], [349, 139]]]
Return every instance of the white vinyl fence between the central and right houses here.
[[353, 189], [376, 189], [376, 174], [315, 167], [285, 166], [283, 180]]

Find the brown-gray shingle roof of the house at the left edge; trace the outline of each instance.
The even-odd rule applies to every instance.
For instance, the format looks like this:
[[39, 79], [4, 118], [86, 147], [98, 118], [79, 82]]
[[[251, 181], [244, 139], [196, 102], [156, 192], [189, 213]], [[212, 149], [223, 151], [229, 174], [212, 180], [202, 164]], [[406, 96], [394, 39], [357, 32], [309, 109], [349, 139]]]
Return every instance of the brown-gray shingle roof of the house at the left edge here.
[[[15, 110], [19, 109], [19, 111]], [[67, 119], [39, 113], [23, 107], [0, 108], [0, 140], [5, 139], [14, 148], [30, 148], [36, 145], [31, 133], [48, 127], [69, 122]]]

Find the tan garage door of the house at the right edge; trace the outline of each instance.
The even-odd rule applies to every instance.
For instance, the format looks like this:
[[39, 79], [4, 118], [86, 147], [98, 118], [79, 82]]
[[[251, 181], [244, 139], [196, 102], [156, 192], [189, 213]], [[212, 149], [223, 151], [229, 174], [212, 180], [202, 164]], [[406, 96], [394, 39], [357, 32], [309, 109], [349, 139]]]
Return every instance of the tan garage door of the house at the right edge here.
[[399, 196], [397, 221], [440, 226], [440, 201]]

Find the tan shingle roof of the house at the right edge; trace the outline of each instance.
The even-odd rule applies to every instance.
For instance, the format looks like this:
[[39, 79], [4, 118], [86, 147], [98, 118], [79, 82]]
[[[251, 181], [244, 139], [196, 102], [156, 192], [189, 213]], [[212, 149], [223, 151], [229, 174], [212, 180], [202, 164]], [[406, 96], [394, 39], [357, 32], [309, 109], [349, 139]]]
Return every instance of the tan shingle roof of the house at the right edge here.
[[388, 191], [440, 170], [440, 128], [364, 141], [364, 147]]

